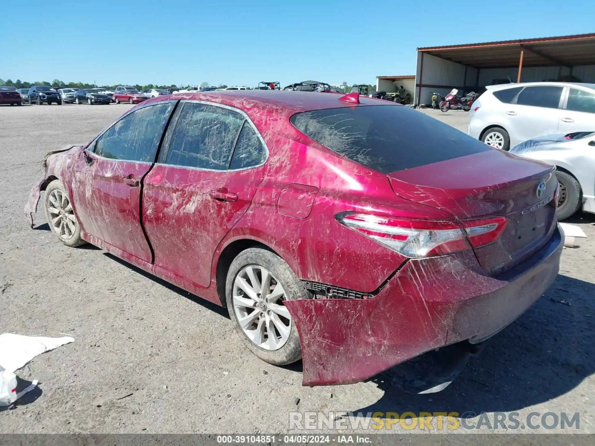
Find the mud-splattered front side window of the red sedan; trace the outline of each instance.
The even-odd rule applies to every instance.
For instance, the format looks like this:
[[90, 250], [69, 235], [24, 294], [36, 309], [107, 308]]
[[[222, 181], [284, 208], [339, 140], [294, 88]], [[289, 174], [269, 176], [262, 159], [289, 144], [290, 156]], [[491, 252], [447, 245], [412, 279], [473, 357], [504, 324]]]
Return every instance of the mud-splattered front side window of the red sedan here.
[[126, 115], [99, 137], [95, 153], [111, 159], [155, 161], [161, 134], [173, 108], [173, 102], [159, 103]]

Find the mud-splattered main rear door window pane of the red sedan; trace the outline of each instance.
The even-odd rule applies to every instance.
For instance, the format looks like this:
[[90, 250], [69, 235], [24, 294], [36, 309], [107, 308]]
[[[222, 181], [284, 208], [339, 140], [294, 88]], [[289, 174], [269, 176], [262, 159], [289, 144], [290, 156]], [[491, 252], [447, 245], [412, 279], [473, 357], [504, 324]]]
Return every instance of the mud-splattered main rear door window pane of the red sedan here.
[[165, 163], [226, 170], [243, 121], [242, 115], [226, 108], [185, 103]]

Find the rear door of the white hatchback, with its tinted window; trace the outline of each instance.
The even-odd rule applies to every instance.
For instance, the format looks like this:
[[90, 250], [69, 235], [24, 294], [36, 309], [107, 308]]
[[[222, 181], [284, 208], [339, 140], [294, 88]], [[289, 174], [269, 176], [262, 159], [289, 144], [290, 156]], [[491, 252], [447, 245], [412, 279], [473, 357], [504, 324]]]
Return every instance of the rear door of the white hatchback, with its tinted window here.
[[528, 86], [516, 96], [515, 103], [505, 107], [511, 147], [558, 130], [563, 90], [554, 85]]

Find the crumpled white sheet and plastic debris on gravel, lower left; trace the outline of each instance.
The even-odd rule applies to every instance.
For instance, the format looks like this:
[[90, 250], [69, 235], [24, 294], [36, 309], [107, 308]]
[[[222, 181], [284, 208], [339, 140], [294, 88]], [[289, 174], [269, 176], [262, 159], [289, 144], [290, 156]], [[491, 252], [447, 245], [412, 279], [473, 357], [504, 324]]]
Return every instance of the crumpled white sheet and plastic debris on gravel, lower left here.
[[23, 336], [13, 333], [0, 335], [0, 406], [10, 406], [18, 398], [32, 391], [37, 380], [17, 393], [17, 376], [14, 372], [24, 367], [30, 360], [45, 351], [74, 342], [74, 338], [46, 338]]

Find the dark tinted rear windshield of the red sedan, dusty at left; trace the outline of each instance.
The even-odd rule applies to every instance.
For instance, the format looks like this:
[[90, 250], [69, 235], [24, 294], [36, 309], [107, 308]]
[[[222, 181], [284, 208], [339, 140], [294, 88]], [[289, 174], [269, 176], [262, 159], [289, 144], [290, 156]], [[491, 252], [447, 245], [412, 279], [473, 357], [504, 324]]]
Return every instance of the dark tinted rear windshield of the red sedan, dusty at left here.
[[398, 105], [302, 112], [297, 130], [352, 161], [387, 174], [493, 150], [448, 124]]

